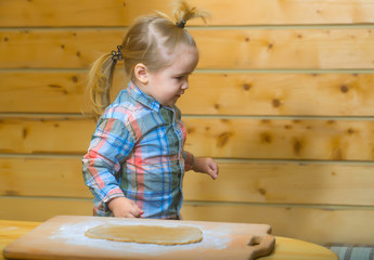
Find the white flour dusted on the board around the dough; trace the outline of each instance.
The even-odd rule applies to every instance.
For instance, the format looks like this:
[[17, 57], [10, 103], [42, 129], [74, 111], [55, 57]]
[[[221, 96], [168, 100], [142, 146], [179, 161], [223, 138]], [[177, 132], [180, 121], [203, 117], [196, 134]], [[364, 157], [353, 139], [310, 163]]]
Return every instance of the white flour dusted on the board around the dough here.
[[[142, 225], [159, 225], [160, 220], [146, 220]], [[159, 255], [163, 252], [170, 252], [170, 251], [178, 251], [178, 250], [190, 250], [190, 249], [206, 249], [206, 248], [215, 248], [215, 249], [224, 249], [231, 238], [228, 236], [227, 232], [222, 232], [219, 229], [215, 230], [204, 230], [204, 226], [194, 225], [194, 224], [184, 224], [190, 226], [195, 226], [202, 230], [203, 232], [203, 240], [196, 244], [188, 244], [188, 245], [175, 245], [175, 246], [166, 246], [166, 245], [154, 245], [154, 244], [138, 244], [138, 243], [124, 243], [124, 242], [114, 242], [114, 240], [106, 240], [106, 239], [95, 239], [90, 238], [85, 235], [88, 229], [94, 227], [96, 225], [101, 225], [104, 223], [111, 224], [126, 224], [126, 225], [139, 225], [139, 222], [130, 221], [130, 220], [121, 220], [121, 219], [107, 219], [103, 218], [95, 218], [92, 220], [88, 220], [80, 223], [65, 223], [59, 230], [53, 232], [53, 235], [50, 236], [53, 242], [55, 243], [65, 243], [72, 247], [74, 246], [85, 246], [87, 248], [95, 248], [102, 250], [109, 250], [109, 251], [126, 251], [126, 252], [133, 252], [133, 253], [150, 253], [150, 255]], [[163, 222], [163, 225], [173, 227], [183, 225], [183, 223], [178, 222]]]

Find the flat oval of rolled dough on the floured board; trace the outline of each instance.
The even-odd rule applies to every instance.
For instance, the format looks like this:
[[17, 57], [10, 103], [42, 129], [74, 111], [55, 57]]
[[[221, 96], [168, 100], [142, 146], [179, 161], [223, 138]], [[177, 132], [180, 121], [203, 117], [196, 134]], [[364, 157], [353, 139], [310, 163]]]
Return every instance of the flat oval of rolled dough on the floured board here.
[[194, 226], [102, 224], [89, 229], [86, 236], [99, 239], [136, 242], [158, 245], [183, 245], [203, 239], [203, 232]]

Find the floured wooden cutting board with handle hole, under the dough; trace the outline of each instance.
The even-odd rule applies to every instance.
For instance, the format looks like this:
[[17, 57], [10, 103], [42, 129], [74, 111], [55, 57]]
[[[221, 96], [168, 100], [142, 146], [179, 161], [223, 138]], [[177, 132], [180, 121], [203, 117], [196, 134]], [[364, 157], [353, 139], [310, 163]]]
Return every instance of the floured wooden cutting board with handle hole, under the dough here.
[[[104, 223], [191, 225], [202, 230], [203, 240], [189, 245], [153, 245], [89, 238], [85, 232]], [[3, 250], [8, 259], [255, 259], [268, 256], [275, 244], [266, 224], [201, 221], [120, 219], [56, 216]]]

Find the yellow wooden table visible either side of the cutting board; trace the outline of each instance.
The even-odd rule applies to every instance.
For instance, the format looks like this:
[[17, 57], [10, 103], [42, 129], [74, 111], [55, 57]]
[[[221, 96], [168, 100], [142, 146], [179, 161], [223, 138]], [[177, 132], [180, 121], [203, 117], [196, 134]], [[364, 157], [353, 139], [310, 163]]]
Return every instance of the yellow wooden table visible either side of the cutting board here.
[[[37, 227], [41, 222], [0, 220], [0, 250], [22, 235]], [[0, 260], [3, 260], [1, 253]], [[322, 246], [276, 236], [274, 251], [261, 260], [338, 260], [338, 257]]]

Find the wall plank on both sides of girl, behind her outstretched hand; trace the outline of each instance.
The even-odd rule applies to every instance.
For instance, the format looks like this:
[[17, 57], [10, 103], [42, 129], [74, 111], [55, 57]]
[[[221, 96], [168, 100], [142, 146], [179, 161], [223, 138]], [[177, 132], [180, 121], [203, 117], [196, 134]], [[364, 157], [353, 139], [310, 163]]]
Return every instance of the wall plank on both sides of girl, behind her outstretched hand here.
[[[0, 157], [0, 196], [92, 197], [80, 157]], [[374, 206], [373, 165], [218, 160], [216, 181], [186, 172], [185, 200]]]

